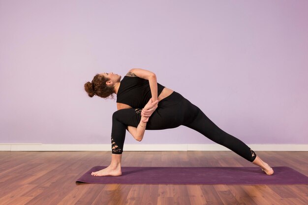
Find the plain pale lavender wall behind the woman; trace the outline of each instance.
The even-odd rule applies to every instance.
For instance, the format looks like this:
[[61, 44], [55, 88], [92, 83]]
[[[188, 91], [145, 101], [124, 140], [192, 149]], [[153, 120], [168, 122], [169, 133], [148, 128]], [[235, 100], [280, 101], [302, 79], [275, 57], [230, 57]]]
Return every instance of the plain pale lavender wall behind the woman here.
[[[247, 144], [308, 143], [307, 0], [0, 0], [0, 143], [110, 144], [96, 73], [156, 73]], [[139, 143], [126, 132], [126, 144]], [[187, 127], [144, 144], [211, 144]]]

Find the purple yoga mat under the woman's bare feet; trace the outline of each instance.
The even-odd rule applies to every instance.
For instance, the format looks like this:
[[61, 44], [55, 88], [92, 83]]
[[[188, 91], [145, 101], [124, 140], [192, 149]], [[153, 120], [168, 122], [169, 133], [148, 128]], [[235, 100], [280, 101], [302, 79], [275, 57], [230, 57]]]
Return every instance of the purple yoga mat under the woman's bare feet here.
[[76, 182], [102, 184], [308, 184], [308, 177], [289, 167], [122, 167], [122, 176], [92, 176], [92, 167]]

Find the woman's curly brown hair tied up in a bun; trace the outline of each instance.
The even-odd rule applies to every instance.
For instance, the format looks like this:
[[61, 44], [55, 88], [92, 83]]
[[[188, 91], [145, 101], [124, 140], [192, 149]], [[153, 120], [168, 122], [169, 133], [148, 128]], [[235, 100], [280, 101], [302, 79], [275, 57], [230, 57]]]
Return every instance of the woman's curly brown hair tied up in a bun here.
[[96, 74], [92, 80], [92, 83], [87, 82], [85, 84], [85, 90], [88, 93], [89, 97], [97, 95], [102, 98], [108, 98], [109, 96], [111, 96], [114, 99], [113, 86], [108, 86], [106, 84], [106, 82], [109, 80], [109, 78], [105, 78], [102, 75]]

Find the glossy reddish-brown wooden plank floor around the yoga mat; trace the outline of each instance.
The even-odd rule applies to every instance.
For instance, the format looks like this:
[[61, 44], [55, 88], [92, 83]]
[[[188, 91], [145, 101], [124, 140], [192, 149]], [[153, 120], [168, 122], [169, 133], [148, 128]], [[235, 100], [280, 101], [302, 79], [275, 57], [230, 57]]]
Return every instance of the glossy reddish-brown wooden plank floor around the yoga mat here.
[[[308, 176], [308, 152], [256, 154]], [[308, 205], [308, 185], [75, 183], [110, 160], [111, 151], [0, 151], [0, 205]], [[124, 151], [122, 166], [255, 167], [232, 151]]]

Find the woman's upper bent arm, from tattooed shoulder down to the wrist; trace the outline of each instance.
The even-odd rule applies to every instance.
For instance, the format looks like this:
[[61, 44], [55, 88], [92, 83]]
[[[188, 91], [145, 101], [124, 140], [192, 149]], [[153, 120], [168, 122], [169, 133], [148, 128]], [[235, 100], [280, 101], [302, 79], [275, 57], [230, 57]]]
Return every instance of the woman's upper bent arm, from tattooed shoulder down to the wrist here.
[[129, 72], [135, 74], [139, 78], [143, 78], [149, 81], [152, 94], [152, 102], [156, 101], [158, 98], [157, 96], [158, 91], [157, 91], [157, 79], [155, 73], [141, 68], [133, 68], [130, 69]]

